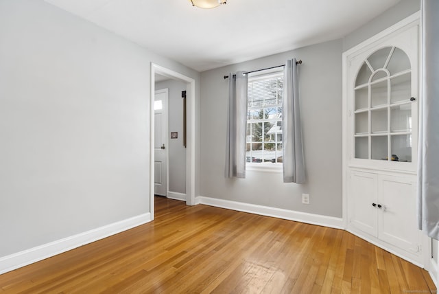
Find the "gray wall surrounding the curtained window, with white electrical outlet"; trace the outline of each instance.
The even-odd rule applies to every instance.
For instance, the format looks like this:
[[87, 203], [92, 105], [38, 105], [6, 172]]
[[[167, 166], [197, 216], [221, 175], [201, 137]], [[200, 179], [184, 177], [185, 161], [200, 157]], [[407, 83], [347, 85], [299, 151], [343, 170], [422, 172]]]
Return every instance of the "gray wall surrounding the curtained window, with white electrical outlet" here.
[[[230, 71], [251, 71], [285, 63], [300, 65], [300, 107], [307, 183], [283, 183], [281, 173], [248, 171], [246, 179], [225, 179], [226, 108]], [[342, 40], [204, 71], [200, 101], [200, 195], [257, 205], [342, 216]], [[302, 204], [309, 193], [310, 204]]]

